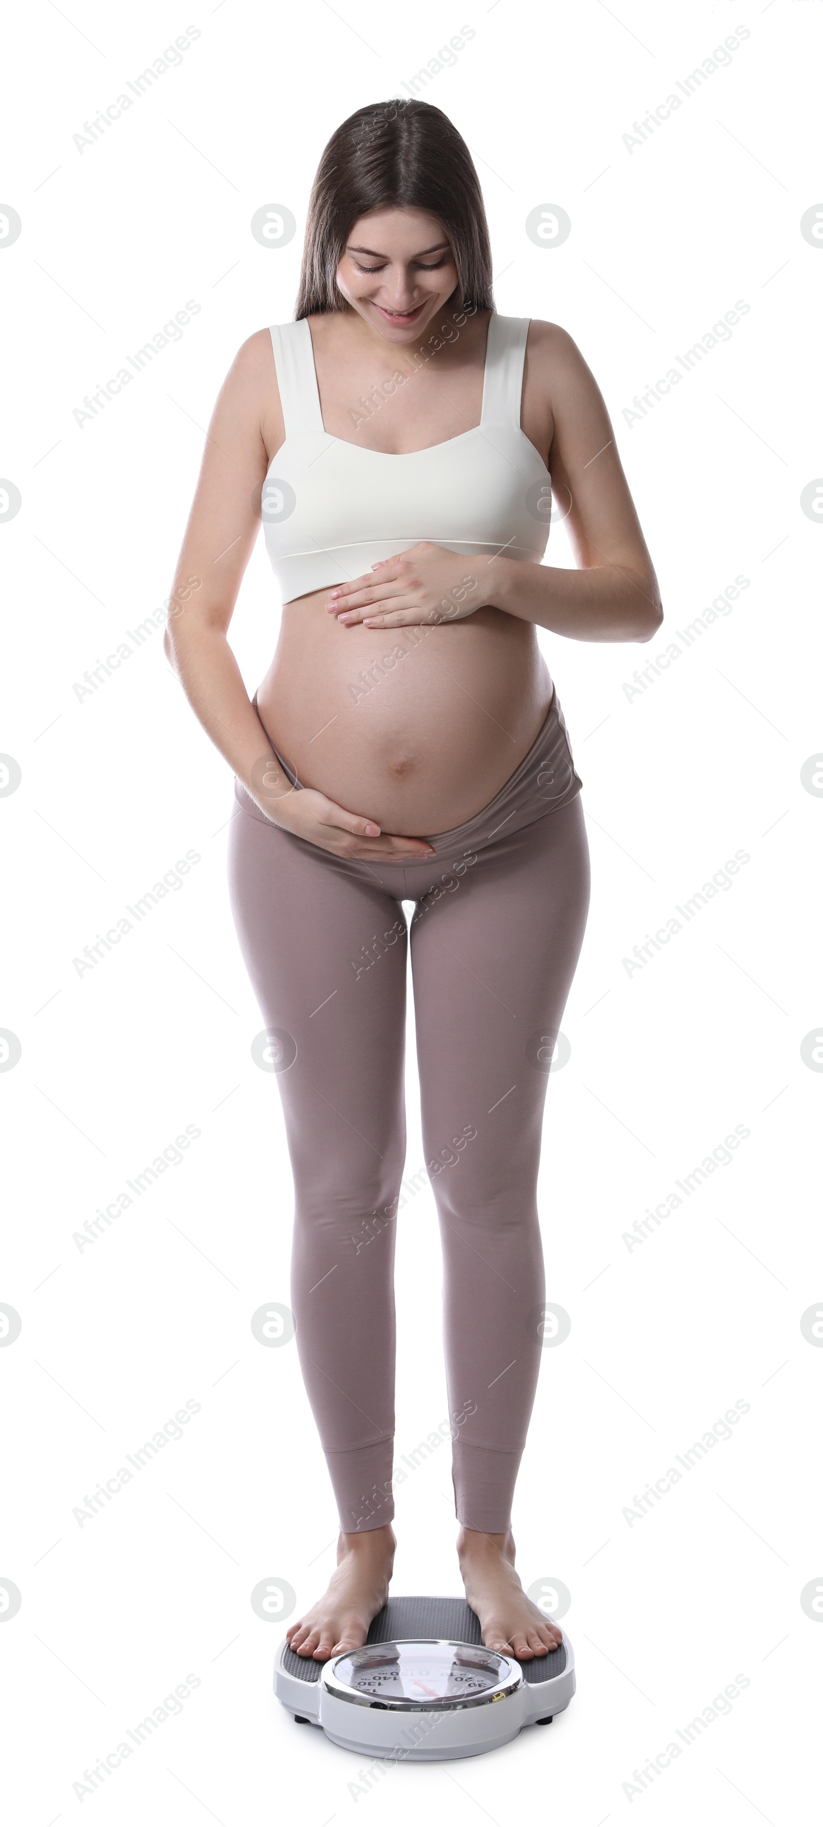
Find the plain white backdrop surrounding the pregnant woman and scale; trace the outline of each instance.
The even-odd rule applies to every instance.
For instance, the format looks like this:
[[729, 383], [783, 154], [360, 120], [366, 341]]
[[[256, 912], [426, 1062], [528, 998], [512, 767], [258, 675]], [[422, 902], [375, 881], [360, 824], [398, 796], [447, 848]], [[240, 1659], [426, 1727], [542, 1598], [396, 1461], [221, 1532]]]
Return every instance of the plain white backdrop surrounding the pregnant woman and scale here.
[[[190, 24], [182, 66], [80, 152], [84, 121]], [[571, 1334], [546, 1352], [515, 1535], [524, 1584], [571, 1593], [578, 1694], [502, 1752], [381, 1774], [277, 1706], [283, 1624], [250, 1604], [261, 1580], [288, 1582], [297, 1608], [318, 1595], [336, 1511], [294, 1345], [266, 1350], [250, 1330], [288, 1301], [292, 1184], [228, 910], [232, 780], [161, 632], [91, 696], [73, 685], [170, 590], [223, 375], [252, 331], [292, 316], [328, 133], [409, 93], [462, 24], [474, 38], [420, 93], [474, 155], [496, 309], [560, 322], [600, 382], [666, 623], [650, 645], [540, 634], [584, 780], [593, 897], [540, 1175], [547, 1299]], [[633, 122], [737, 26], [750, 37], [730, 68], [630, 150]], [[823, 471], [823, 245], [799, 221], [823, 195], [821, 26], [816, 0], [35, 0], [5, 24], [2, 183], [22, 234], [0, 250], [0, 471], [22, 508], [0, 524], [0, 749], [22, 784], [0, 802], [0, 1027], [22, 1056], [0, 1078], [0, 1299], [22, 1332], [0, 1352], [0, 1577], [22, 1604], [0, 1650], [20, 1827], [78, 1807], [117, 1827], [816, 1818], [823, 1630], [799, 1595], [823, 1588], [823, 1352], [799, 1321], [823, 1295], [808, 1155], [823, 1078], [801, 1041], [823, 1016], [823, 808], [801, 767], [823, 749], [823, 532], [801, 491]], [[288, 247], [250, 234], [270, 203], [297, 219]], [[549, 203], [571, 234], [542, 248], [524, 223]], [[201, 312], [182, 338], [80, 429], [84, 395], [186, 300]], [[750, 311], [732, 338], [630, 426], [633, 395], [737, 300]], [[569, 563], [562, 532], [547, 557]], [[628, 698], [635, 667], [737, 574], [732, 614]], [[261, 541], [232, 625], [250, 691], [277, 614]], [[201, 861], [184, 886], [78, 976], [73, 959], [186, 850]], [[630, 976], [622, 959], [737, 850], [734, 886]], [[416, 1171], [412, 1027], [407, 1096]], [[186, 1124], [201, 1136], [182, 1164], [78, 1250], [73, 1233]], [[750, 1135], [734, 1160], [630, 1250], [633, 1222], [735, 1125]], [[447, 1412], [429, 1189], [400, 1215], [398, 1304], [400, 1454]], [[73, 1509], [186, 1399], [201, 1409], [182, 1438], [80, 1526]], [[624, 1516], [735, 1401], [732, 1438]], [[396, 1531], [398, 1593], [460, 1591], [445, 1445], [398, 1487]], [[75, 1796], [188, 1672], [201, 1684], [182, 1712]], [[750, 1684], [730, 1714], [626, 1792], [737, 1674]]]

